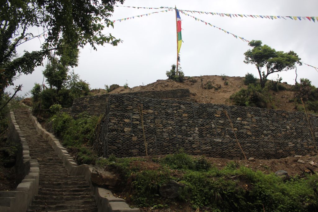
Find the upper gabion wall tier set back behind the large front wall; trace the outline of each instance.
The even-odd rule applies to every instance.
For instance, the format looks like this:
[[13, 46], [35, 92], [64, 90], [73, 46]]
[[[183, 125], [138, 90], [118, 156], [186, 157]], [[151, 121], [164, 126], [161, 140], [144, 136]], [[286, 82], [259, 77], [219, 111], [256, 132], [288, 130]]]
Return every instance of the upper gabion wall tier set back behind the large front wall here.
[[[194, 98], [190, 97], [189, 89], [174, 89], [168, 91], [139, 91], [124, 93], [121, 95], [194, 102]], [[100, 96], [85, 96], [78, 99], [74, 99], [70, 112], [75, 119], [78, 117], [79, 113], [83, 112], [86, 112], [91, 116], [99, 116], [100, 114], [104, 114], [106, 113], [108, 96], [109, 94], [104, 94]]]

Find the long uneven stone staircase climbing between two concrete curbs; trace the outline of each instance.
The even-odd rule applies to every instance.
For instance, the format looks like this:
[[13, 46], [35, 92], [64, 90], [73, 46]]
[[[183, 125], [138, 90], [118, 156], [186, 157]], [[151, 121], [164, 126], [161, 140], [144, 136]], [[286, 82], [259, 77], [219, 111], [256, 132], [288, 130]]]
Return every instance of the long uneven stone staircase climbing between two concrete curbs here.
[[39, 190], [28, 211], [98, 211], [84, 176], [70, 176], [51, 145], [34, 128], [27, 111], [14, 111], [17, 124], [39, 163]]

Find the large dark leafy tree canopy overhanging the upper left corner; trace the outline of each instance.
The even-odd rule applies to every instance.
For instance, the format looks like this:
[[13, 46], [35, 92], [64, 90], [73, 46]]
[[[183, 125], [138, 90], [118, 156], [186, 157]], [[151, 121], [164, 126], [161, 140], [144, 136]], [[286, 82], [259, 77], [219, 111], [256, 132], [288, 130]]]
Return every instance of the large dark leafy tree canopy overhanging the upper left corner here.
[[[44, 57], [50, 59], [52, 51], [75, 50], [86, 44], [96, 50], [95, 45], [121, 42], [111, 34], [102, 33], [105, 25], [113, 27], [108, 18], [116, 2], [124, 0], [3, 1], [0, 4], [0, 99], [4, 89], [13, 85], [17, 73], [32, 73], [36, 66], [42, 65]], [[29, 32], [32, 27], [38, 27], [40, 35], [45, 35], [44, 43], [38, 51], [24, 51], [17, 56], [17, 46], [37, 38]]]

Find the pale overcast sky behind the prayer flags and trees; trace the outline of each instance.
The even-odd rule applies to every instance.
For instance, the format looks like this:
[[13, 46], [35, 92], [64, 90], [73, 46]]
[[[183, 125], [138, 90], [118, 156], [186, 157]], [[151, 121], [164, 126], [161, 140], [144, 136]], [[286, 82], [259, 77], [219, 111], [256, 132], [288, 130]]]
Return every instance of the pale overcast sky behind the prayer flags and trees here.
[[[118, 4], [121, 5], [121, 4]], [[124, 6], [175, 7], [180, 10], [196, 10], [228, 14], [269, 15], [269, 16], [314, 16], [318, 17], [316, 0], [126, 0]], [[118, 46], [105, 44], [94, 51], [90, 46], [80, 49], [79, 65], [75, 73], [90, 84], [91, 89], [104, 85], [128, 84], [129, 87], [147, 85], [157, 79], [167, 79], [166, 71], [176, 64], [176, 14], [167, 9], [135, 9], [115, 7], [110, 20], [135, 16], [134, 19], [116, 21], [113, 28], [105, 28], [123, 42]], [[318, 67], [318, 21], [291, 20], [287, 18], [265, 19], [252, 17], [220, 17], [211, 14], [186, 12], [239, 37], [261, 40], [277, 51], [295, 51], [301, 61]], [[181, 67], [185, 76], [221, 75], [245, 76], [247, 72], [258, 76], [254, 65], [245, 64], [244, 52], [251, 49], [247, 42], [231, 34], [196, 21], [180, 13], [182, 19], [183, 44], [180, 50]], [[34, 29], [33, 29], [34, 30]], [[35, 32], [36, 34], [36, 32]], [[37, 50], [43, 38], [32, 39], [20, 45], [24, 50]], [[46, 61], [44, 61], [46, 63]], [[29, 92], [34, 83], [42, 83], [44, 67], [37, 67], [32, 74], [21, 75], [14, 83], [23, 84], [19, 95]], [[308, 78], [318, 87], [318, 72], [307, 65], [297, 67], [297, 81]], [[280, 72], [282, 82], [295, 83], [295, 70]], [[277, 74], [269, 75], [277, 78]], [[47, 83], [44, 82], [46, 85]], [[12, 92], [12, 86], [7, 89]]]

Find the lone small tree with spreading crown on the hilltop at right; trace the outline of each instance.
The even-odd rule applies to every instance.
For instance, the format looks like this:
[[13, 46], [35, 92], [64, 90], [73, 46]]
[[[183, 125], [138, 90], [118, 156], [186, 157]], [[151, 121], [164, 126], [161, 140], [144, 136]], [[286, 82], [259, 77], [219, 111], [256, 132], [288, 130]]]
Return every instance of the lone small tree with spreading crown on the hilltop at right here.
[[[276, 51], [268, 45], [262, 45], [260, 40], [248, 43], [252, 49], [247, 50], [244, 63], [254, 64], [259, 72], [260, 85], [264, 88], [268, 75], [294, 69], [296, 64], [301, 64], [301, 58], [294, 51]], [[266, 68], [266, 72], [262, 68]]]

